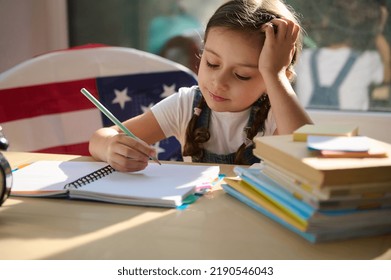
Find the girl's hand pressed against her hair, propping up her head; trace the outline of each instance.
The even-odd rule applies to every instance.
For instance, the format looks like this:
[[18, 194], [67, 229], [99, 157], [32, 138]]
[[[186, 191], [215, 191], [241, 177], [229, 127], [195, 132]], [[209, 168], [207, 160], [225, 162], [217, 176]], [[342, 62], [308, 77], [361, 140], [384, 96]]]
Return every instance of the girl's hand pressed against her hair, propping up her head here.
[[265, 74], [286, 75], [292, 62], [300, 27], [285, 18], [276, 18], [262, 26], [265, 42], [259, 56], [258, 69]]

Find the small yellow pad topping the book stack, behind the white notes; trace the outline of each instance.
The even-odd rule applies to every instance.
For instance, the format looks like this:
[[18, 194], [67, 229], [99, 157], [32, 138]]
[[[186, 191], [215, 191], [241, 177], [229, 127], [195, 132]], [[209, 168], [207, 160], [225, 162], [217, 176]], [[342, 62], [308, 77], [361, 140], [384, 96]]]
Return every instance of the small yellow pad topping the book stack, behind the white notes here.
[[308, 135], [357, 136], [358, 126], [354, 124], [306, 124], [293, 132], [293, 141], [306, 142]]

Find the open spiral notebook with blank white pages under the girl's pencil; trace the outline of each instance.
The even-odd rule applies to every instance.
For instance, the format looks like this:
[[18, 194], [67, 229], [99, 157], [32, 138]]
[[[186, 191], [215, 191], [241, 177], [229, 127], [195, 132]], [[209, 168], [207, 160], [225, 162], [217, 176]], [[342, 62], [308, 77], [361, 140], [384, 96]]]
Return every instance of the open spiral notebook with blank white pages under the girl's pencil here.
[[13, 173], [11, 195], [176, 207], [218, 174], [219, 167], [210, 165], [150, 163], [125, 173], [104, 162], [37, 161]]

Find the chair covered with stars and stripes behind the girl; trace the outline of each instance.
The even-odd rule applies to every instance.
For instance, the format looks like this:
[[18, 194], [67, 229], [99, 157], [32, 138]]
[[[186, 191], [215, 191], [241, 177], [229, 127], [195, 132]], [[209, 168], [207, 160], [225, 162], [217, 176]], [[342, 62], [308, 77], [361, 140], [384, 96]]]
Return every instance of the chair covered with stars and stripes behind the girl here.
[[[195, 84], [186, 67], [132, 48], [86, 45], [50, 52], [0, 74], [0, 125], [9, 151], [89, 155], [92, 133], [112, 123], [81, 88], [123, 121]], [[161, 160], [181, 160], [175, 138], [156, 148]]]

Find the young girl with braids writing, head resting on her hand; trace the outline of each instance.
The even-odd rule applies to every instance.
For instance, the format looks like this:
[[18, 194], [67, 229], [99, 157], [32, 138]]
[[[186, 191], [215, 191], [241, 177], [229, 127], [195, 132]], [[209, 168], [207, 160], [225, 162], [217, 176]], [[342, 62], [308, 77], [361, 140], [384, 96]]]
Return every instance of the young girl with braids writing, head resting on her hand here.
[[99, 129], [91, 155], [118, 171], [144, 169], [149, 146], [175, 136], [193, 162], [251, 164], [257, 135], [289, 134], [311, 123], [290, 81], [301, 50], [301, 30], [280, 0], [232, 0], [210, 18], [204, 38], [199, 86], [181, 88], [124, 125]]

